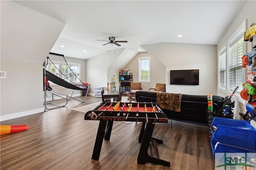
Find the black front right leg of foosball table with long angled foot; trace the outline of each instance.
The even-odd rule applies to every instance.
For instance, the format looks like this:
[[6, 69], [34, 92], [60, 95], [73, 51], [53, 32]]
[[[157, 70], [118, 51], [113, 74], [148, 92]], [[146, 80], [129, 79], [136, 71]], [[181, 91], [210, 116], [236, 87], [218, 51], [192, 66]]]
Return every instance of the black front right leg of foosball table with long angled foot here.
[[[170, 166], [170, 162], [167, 162], [167, 161], [162, 160], [157, 157], [150, 156], [148, 154], [148, 147], [149, 147], [151, 139], [152, 139], [154, 126], [155, 126], [155, 123], [146, 123], [146, 129], [145, 129], [142, 143], [140, 146], [137, 163], [138, 164], [153, 163], [153, 164], [158, 164], [158, 165], [163, 165], [163, 166]], [[153, 153], [153, 155], [154, 155], [154, 153]]]

